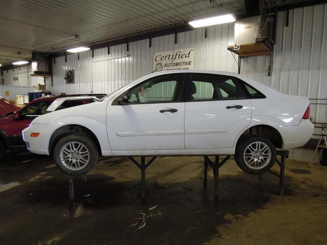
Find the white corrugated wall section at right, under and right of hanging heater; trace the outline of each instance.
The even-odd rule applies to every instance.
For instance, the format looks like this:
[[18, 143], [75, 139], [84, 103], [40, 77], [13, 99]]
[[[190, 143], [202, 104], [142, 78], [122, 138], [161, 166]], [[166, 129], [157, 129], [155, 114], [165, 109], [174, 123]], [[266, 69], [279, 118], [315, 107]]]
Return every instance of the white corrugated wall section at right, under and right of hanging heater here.
[[[264, 56], [242, 59], [241, 74], [283, 93], [327, 99], [327, 4], [290, 10], [288, 27], [285, 19], [278, 12], [272, 76]], [[327, 122], [327, 106], [312, 104], [310, 115]]]

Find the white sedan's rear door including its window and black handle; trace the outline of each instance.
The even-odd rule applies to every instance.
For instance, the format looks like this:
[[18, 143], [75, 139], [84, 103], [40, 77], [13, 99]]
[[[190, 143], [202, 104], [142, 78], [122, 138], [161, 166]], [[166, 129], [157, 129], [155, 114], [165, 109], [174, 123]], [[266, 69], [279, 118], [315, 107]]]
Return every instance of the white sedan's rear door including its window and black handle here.
[[193, 73], [185, 104], [185, 149], [232, 148], [252, 106], [235, 78]]

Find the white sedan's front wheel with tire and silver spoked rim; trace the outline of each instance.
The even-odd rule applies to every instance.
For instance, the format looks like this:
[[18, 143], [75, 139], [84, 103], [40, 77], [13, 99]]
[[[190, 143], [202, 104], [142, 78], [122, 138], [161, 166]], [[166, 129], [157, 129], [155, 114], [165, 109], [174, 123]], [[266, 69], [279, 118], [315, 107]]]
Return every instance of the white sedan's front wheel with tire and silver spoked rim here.
[[63, 173], [81, 176], [96, 165], [99, 152], [94, 140], [86, 134], [71, 134], [56, 143], [53, 157]]

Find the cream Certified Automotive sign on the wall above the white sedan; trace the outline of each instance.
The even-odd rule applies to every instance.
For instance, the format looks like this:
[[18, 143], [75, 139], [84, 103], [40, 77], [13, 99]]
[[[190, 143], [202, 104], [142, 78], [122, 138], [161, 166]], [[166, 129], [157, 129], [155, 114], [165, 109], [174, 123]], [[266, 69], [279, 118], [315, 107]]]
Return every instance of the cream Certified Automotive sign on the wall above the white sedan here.
[[155, 71], [194, 69], [194, 48], [155, 53], [153, 69]]

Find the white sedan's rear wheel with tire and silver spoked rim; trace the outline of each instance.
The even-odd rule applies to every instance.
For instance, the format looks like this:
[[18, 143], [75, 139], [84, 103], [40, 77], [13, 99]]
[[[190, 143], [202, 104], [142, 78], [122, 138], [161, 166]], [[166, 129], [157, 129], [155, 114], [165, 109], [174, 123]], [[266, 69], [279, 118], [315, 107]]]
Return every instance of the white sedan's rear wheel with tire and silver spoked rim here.
[[234, 157], [243, 171], [260, 175], [274, 165], [276, 148], [271, 140], [264, 136], [251, 136], [240, 142]]

